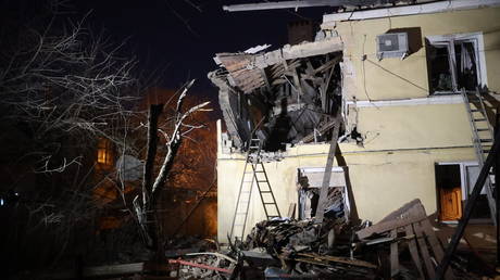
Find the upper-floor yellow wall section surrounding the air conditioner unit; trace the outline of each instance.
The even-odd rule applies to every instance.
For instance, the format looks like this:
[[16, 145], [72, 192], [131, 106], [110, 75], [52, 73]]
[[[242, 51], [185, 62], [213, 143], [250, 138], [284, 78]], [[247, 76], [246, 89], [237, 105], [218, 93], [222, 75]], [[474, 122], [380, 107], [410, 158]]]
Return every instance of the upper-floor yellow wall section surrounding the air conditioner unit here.
[[[376, 58], [376, 36], [395, 28], [421, 28], [422, 48], [403, 61]], [[500, 8], [436, 14], [338, 22], [335, 30], [345, 43], [347, 75], [345, 94], [358, 100], [389, 100], [428, 96], [425, 37], [483, 33], [488, 88], [500, 91]], [[366, 60], [362, 60], [366, 55]], [[350, 65], [352, 64], [352, 65]], [[352, 69], [351, 69], [352, 67]]]

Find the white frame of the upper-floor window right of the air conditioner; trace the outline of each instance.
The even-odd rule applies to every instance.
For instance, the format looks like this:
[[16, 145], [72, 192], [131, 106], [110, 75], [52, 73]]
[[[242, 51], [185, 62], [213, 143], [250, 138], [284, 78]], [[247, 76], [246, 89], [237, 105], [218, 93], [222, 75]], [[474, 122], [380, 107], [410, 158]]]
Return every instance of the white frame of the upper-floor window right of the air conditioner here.
[[[429, 93], [430, 94], [457, 94], [460, 93], [458, 88], [458, 73], [457, 73], [457, 59], [455, 59], [455, 41], [465, 41], [472, 42], [474, 44], [475, 60], [477, 65], [477, 86], [486, 87], [487, 86], [487, 74], [486, 74], [486, 59], [485, 59], [485, 47], [483, 41], [483, 33], [467, 33], [467, 34], [450, 34], [450, 35], [436, 35], [436, 36], [426, 36], [428, 43], [430, 46], [446, 46], [448, 49], [448, 62], [451, 73], [451, 91], [433, 91], [432, 82], [429, 80]], [[428, 48], [427, 46], [426, 48]], [[429, 62], [428, 55], [426, 56], [427, 62]], [[430, 75], [430, 68], [427, 69]]]

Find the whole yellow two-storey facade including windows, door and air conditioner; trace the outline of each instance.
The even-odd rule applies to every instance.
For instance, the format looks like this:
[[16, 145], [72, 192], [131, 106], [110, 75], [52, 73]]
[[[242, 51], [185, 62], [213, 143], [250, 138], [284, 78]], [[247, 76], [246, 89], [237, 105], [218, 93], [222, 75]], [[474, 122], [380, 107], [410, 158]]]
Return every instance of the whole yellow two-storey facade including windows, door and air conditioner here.
[[[460, 218], [479, 171], [461, 91], [487, 92], [486, 112], [495, 123], [500, 100], [499, 7], [500, 1], [438, 1], [324, 16], [322, 31], [310, 44], [323, 41], [336, 46], [321, 55], [341, 53], [335, 66], [340, 73], [340, 94], [334, 90], [330, 96], [340, 96], [336, 102], [343, 126], [333, 170], [337, 175], [330, 187], [343, 188], [350, 216], [376, 222], [400, 205], [420, 199], [436, 219]], [[403, 39], [395, 38], [398, 35]], [[280, 53], [285, 64], [293, 63], [296, 58], [286, 58], [284, 50]], [[262, 55], [272, 56], [270, 52]], [[250, 61], [259, 62], [259, 58]], [[229, 76], [234, 74], [228, 65], [222, 65]], [[263, 67], [267, 78], [273, 65]], [[311, 85], [304, 75], [293, 84], [299, 97]], [[328, 82], [323, 92], [328, 92]], [[264, 91], [266, 84], [271, 84], [267, 91], [273, 91], [272, 85], [277, 82], [264, 80]], [[237, 80], [217, 86], [221, 92], [225, 86], [236, 89], [232, 94], [249, 97], [238, 91], [241, 85]], [[321, 89], [318, 92], [322, 94]], [[254, 102], [247, 103], [251, 112]], [[227, 132], [222, 133], [220, 126], [217, 137], [220, 241], [227, 240], [232, 228], [246, 161], [245, 149], [235, 147], [227, 119], [225, 115]], [[252, 129], [249, 124], [248, 130]], [[296, 204], [296, 217], [304, 217], [307, 203], [301, 198], [300, 178], [311, 174], [311, 186], [315, 180], [312, 174], [324, 171], [329, 143], [321, 138], [316, 141], [321, 122], [312, 131], [315, 141], [291, 141], [267, 155], [264, 164], [283, 216], [290, 204]], [[251, 226], [265, 219], [258, 195], [253, 188], [247, 220]], [[487, 204], [480, 205], [475, 217], [487, 221]]]

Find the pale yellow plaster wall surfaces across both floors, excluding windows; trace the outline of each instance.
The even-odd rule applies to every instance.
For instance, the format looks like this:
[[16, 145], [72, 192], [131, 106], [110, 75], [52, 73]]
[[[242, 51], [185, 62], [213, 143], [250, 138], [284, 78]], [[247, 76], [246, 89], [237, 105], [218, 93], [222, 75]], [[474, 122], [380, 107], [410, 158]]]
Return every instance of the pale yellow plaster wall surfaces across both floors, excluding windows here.
[[[342, 94], [348, 100], [429, 96], [424, 41], [403, 61], [379, 62], [376, 58], [376, 36], [403, 27], [421, 27], [422, 40], [432, 35], [483, 31], [488, 87], [500, 91], [500, 9], [489, 8], [337, 23], [336, 30], [345, 42]], [[364, 148], [342, 143], [340, 150], [361, 219], [376, 222], [413, 199], [422, 200], [428, 215], [435, 213], [435, 163], [475, 161], [463, 103], [371, 106], [358, 107], [357, 112]], [[324, 167], [327, 151], [327, 144], [298, 145], [288, 149], [283, 161], [265, 165], [283, 215], [290, 203], [298, 203], [297, 169]], [[225, 154], [220, 149], [217, 164], [218, 239], [224, 242], [230, 231], [245, 162], [242, 155]], [[254, 192], [247, 225], [251, 228], [264, 218]]]

